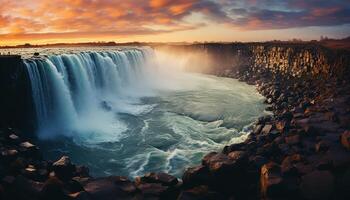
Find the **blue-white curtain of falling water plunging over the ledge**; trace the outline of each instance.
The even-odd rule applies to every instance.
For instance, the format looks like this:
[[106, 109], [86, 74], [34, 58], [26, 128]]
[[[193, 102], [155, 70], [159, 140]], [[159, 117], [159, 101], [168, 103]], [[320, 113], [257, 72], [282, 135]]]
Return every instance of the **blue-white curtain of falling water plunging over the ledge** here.
[[102, 132], [118, 138], [125, 125], [113, 112], [116, 99], [144, 89], [153, 56], [150, 48], [138, 48], [25, 59], [39, 137], [85, 132], [84, 137], [98, 142], [94, 135]]

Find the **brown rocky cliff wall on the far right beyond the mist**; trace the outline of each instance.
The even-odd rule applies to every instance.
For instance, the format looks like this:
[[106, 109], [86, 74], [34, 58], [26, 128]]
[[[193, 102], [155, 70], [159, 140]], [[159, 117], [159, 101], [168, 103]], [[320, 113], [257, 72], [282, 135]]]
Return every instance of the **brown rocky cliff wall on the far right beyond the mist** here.
[[[171, 53], [202, 53], [211, 63], [205, 73], [226, 77], [271, 72], [291, 77], [328, 79], [349, 71], [350, 53], [312, 43], [232, 43], [157, 46]], [[191, 66], [189, 66], [191, 70]], [[253, 74], [252, 74], [253, 73]]]

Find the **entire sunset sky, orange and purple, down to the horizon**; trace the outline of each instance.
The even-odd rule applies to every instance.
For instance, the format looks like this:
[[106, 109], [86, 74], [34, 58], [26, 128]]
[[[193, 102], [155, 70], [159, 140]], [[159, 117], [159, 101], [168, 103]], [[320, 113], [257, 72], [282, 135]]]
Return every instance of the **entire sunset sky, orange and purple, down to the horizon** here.
[[0, 0], [0, 45], [350, 36], [350, 0]]

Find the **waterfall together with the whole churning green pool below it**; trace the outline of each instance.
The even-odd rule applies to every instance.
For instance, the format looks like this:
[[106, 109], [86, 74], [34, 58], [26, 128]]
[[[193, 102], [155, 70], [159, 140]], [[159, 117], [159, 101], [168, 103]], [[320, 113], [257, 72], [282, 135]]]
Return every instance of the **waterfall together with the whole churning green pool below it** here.
[[243, 140], [262, 97], [234, 79], [183, 72], [184, 62], [147, 47], [25, 59], [45, 156], [69, 155], [95, 176], [179, 176]]

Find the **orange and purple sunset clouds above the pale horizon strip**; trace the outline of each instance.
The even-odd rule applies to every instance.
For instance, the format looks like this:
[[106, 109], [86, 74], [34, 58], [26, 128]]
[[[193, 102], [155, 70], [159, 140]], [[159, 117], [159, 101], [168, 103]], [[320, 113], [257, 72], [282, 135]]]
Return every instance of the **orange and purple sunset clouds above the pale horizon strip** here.
[[[0, 39], [134, 36], [206, 24], [261, 30], [350, 23], [348, 0], [0, 0]], [[186, 20], [194, 13], [197, 21]]]

